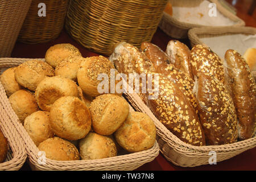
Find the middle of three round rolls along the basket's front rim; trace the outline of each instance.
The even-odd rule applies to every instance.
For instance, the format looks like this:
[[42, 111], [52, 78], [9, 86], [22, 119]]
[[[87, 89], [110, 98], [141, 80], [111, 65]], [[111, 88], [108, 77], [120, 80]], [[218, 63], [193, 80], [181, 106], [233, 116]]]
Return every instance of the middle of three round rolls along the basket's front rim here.
[[79, 142], [82, 160], [104, 159], [117, 156], [117, 147], [110, 137], [90, 132]]

